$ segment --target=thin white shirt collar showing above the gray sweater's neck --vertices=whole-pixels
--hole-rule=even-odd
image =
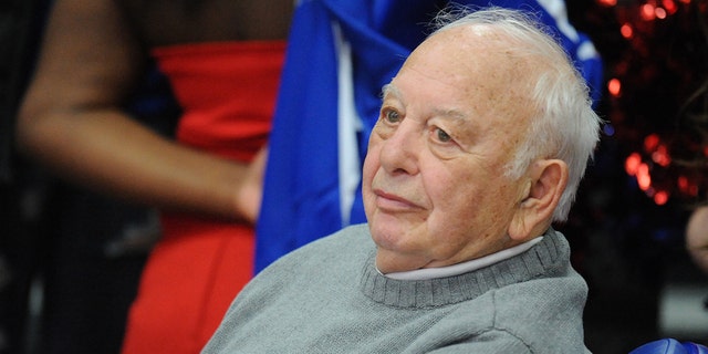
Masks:
[[[387,273],[387,274],[384,274],[381,271],[378,272],[386,278],[396,279],[396,280],[429,280],[429,279],[459,275],[462,273],[471,272],[473,270],[478,270],[478,269],[491,266],[493,263],[512,258],[519,253],[525,252],[534,244],[541,242],[542,239],[543,237],[537,237],[530,241],[523,242],[521,244],[517,244],[512,248],[508,248],[499,252],[485,256],[482,258],[472,259],[472,260],[452,264],[452,266],[440,267],[440,268],[421,268],[421,269],[415,269],[415,270],[409,270],[405,272],[394,272],[394,273]]]

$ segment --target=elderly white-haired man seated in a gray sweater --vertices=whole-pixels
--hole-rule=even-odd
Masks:
[[[586,352],[587,287],[551,223],[598,125],[534,22],[487,9],[444,25],[384,87],[368,225],[261,272],[204,353]]]

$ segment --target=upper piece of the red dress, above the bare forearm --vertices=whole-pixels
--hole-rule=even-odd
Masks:
[[[270,132],[284,49],[284,42],[239,42],[154,50],[184,110],[177,139],[250,160]]]

